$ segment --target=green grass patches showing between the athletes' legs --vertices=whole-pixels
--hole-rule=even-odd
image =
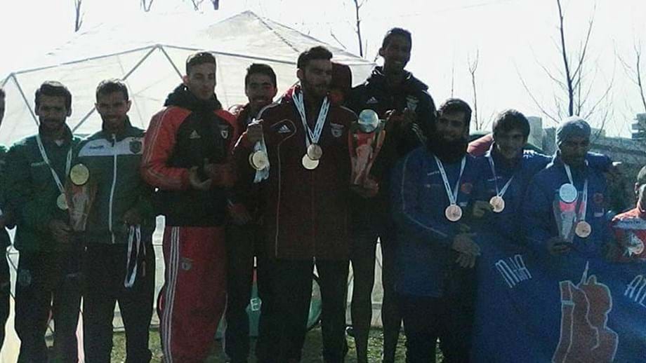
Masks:
[[[381,329],[371,329],[370,337],[368,341],[368,361],[369,362],[381,362]],[[113,338],[114,348],[112,348],[112,362],[124,362],[126,359],[126,337],[123,332],[114,333]],[[252,352],[253,345],[255,341],[252,340]],[[159,331],[157,329],[152,329],[150,331],[150,347],[152,350],[152,362],[162,362],[162,350],[159,348]],[[348,337],[348,356],[345,359],[345,362],[355,363],[357,362],[357,352],[355,350],[355,341],[351,337]],[[303,363],[318,363],[322,362],[321,358],[322,350],[322,341],[321,341],[321,329],[319,327],[312,329],[308,332],[308,336],[305,340],[305,347],[303,347]],[[395,362],[404,362],[404,334],[400,335],[400,342],[397,345],[397,357]],[[220,342],[216,343],[216,349],[213,352],[213,355],[206,360],[209,363],[220,363],[225,362],[224,354],[222,352]],[[255,359],[249,359],[250,363],[256,362]]]

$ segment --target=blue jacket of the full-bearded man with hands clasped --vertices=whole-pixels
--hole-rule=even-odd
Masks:
[[[400,294],[440,297],[459,289],[465,273],[451,249],[453,238],[466,228],[467,207],[477,177],[475,159],[466,155],[457,203],[463,217],[456,222],[444,217],[449,198],[440,170],[426,146],[405,156],[393,170],[391,200],[397,224],[395,289]],[[461,162],[444,163],[451,189],[456,185]]]

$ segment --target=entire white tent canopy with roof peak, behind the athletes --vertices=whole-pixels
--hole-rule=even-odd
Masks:
[[[29,69],[13,72],[1,83],[7,97],[0,144],[10,145],[37,132],[34,91],[47,80],[70,88],[72,116],[67,123],[74,133],[88,135],[101,125],[94,110],[94,92],[100,81],[124,79],[133,101],[131,122],[147,128],[150,117],[180,82],[186,57],[196,50],[216,55],[216,94],[224,107],[246,102],[244,74],[253,62],[269,64],[277,74],[279,94],[284,92],[296,82],[298,54],[312,46],[326,46],[336,62],[348,64],[355,84],[364,81],[374,67],[373,62],[250,11],[203,23],[178,15],[149,15],[145,24],[127,20],[98,25]]]

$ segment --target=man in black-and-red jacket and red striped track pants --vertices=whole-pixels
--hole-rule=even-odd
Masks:
[[[143,179],[159,189],[166,217],[166,275],[159,293],[164,362],[203,362],[225,308],[224,224],[229,160],[237,128],[214,90],[216,59],[196,53],[183,84],[152,117],[141,164]]]

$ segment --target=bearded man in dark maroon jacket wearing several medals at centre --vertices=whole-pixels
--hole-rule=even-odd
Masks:
[[[323,359],[343,362],[348,349],[348,128],[356,116],[328,100],[331,57],[320,46],[301,53],[296,71],[301,85],[293,97],[266,107],[258,116],[262,121],[249,125],[235,150],[241,167],[250,170],[251,146],[264,139],[269,158],[268,167],[256,172],[256,180],[266,178],[263,241],[272,274],[272,313],[263,317],[270,324],[265,341],[270,351],[258,362],[301,360],[314,266],[324,312]]]

